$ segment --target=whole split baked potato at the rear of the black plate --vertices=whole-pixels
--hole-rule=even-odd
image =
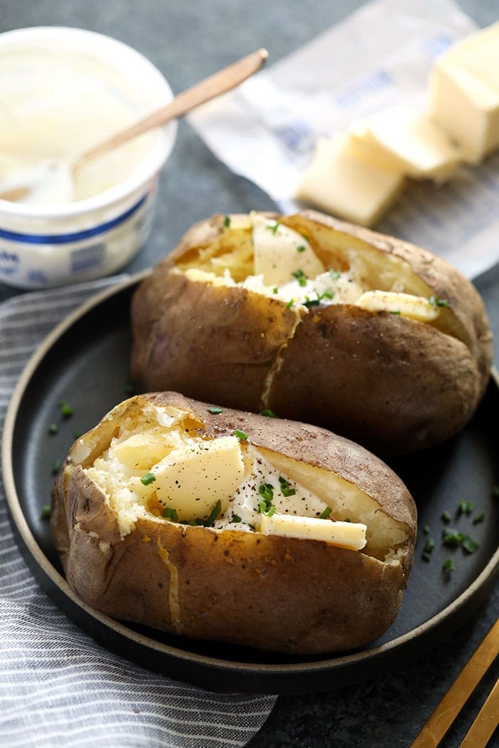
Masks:
[[[136,391],[269,409],[382,456],[462,429],[492,363],[456,269],[314,211],[196,224],[136,290],[132,334]]]

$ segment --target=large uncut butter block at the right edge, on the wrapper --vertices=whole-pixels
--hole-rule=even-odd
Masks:
[[[431,116],[479,163],[499,147],[499,22],[456,42],[435,62]]]

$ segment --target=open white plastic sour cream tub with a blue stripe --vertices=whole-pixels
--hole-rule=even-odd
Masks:
[[[147,58],[102,34],[0,34],[0,192],[31,183],[47,160],[70,164],[172,98]],[[70,191],[49,184],[26,202],[0,200],[0,282],[46,288],[126,265],[150,233],[157,177],[176,133],[170,123],[135,138],[82,169]]]

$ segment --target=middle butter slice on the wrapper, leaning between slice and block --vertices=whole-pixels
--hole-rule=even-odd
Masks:
[[[442,127],[408,107],[373,114],[352,131],[358,155],[414,179],[444,182],[462,162],[461,149]]]

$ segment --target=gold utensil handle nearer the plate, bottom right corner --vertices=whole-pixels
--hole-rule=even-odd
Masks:
[[[489,633],[486,634],[483,642],[477,647],[450,689],[447,691],[443,699],[441,699],[441,702],[435,708],[431,717],[429,717],[428,722],[423,726],[419,735],[417,735],[411,748],[435,748],[438,746],[462,707],[468,701],[471,693],[473,693],[477,684],[480,683],[483,675],[485,675],[498,654],[499,619],[492,626]],[[493,695],[494,691],[495,689],[493,689],[491,693],[493,704],[495,703],[496,698],[496,696]],[[489,696],[489,699],[491,696]],[[489,701],[489,699],[487,699],[487,701]],[[486,704],[483,705],[483,710],[484,709],[486,709]],[[475,720],[475,722],[476,721],[477,720]],[[474,726],[471,726],[471,729],[473,728]],[[468,745],[471,746],[471,743]],[[474,748],[476,748],[480,744],[475,743],[473,745]]]

